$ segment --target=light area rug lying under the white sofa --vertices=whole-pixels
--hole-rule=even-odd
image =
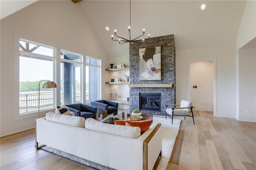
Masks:
[[[172,125],[172,119],[153,117],[153,122],[161,123],[162,127],[162,157],[158,164],[157,170],[165,170],[172,154],[172,149],[176,140],[176,136],[178,135],[180,120],[174,119]],[[97,164],[95,162],[80,158],[78,156],[74,156],[72,154],[68,154],[50,146],[44,146],[42,147],[42,149],[97,170],[114,170],[113,168]]]

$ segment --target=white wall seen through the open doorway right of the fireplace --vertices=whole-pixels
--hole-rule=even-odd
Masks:
[[[190,63],[190,101],[196,110],[213,111],[213,80],[213,61]]]

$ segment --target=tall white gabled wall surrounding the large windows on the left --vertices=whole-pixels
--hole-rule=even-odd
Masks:
[[[59,49],[102,59],[102,91],[108,56],[79,6],[71,1],[38,1],[0,20],[1,26],[1,136],[35,127],[36,117],[14,121],[14,33]],[[60,85],[59,85],[60,86]],[[58,88],[57,88],[58,89]],[[59,89],[60,90],[60,89]],[[57,103],[59,105],[60,103]]]

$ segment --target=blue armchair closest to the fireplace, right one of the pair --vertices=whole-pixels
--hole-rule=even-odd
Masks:
[[[108,115],[118,114],[118,103],[109,100],[91,101],[91,105],[98,108],[98,114],[102,115],[102,119]]]

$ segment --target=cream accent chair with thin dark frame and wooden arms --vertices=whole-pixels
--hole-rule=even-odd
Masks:
[[[176,106],[180,106],[180,107],[176,107]],[[168,107],[172,107],[172,108],[168,108]],[[193,103],[185,100],[180,101],[180,105],[166,105],[165,119],[167,115],[170,118],[172,118],[172,122],[173,122],[174,116],[184,116],[185,120],[186,120],[186,117],[192,117],[195,125],[194,115],[192,110],[193,108],[195,108],[193,106]]]

